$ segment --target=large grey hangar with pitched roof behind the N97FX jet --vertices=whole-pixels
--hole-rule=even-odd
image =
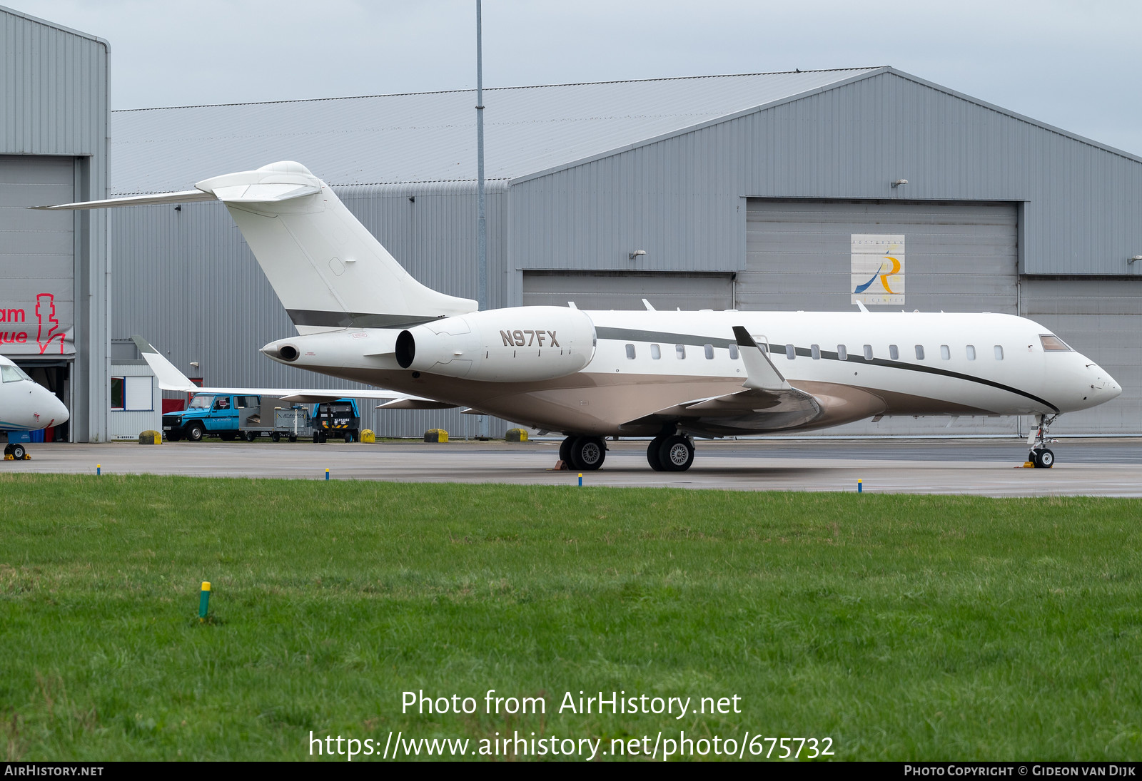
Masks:
[[[903,287],[870,308],[1037,320],[1125,388],[1055,433],[1142,434],[1142,158],[893,67],[484,98],[491,306],[844,311],[862,248],[894,242]],[[297,160],[417,279],[475,298],[474,105],[461,90],[112,112],[112,191]],[[293,330],[220,204],[116,210],[111,233],[121,357],[142,333],[208,384],[328,381],[258,354]],[[373,414],[378,434],[475,433],[455,410]],[[1026,435],[1028,422],[822,434]]]

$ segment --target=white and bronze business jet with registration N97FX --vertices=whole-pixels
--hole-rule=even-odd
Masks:
[[[1121,393],[1096,363],[1012,315],[478,312],[413,280],[296,162],[182,193],[48,208],[210,200],[226,204],[297,328],[263,353],[409,394],[381,408],[467,406],[562,432],[561,457],[577,469],[602,466],[606,436],[651,436],[650,466],[682,472],[695,436],[896,414],[1036,416],[1030,459],[1049,467],[1048,426]]]

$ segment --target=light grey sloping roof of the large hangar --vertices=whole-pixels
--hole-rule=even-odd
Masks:
[[[509,179],[806,95],[878,67],[484,90],[485,177]],[[474,89],[112,112],[115,194],[297,160],[333,185],[476,178]]]

